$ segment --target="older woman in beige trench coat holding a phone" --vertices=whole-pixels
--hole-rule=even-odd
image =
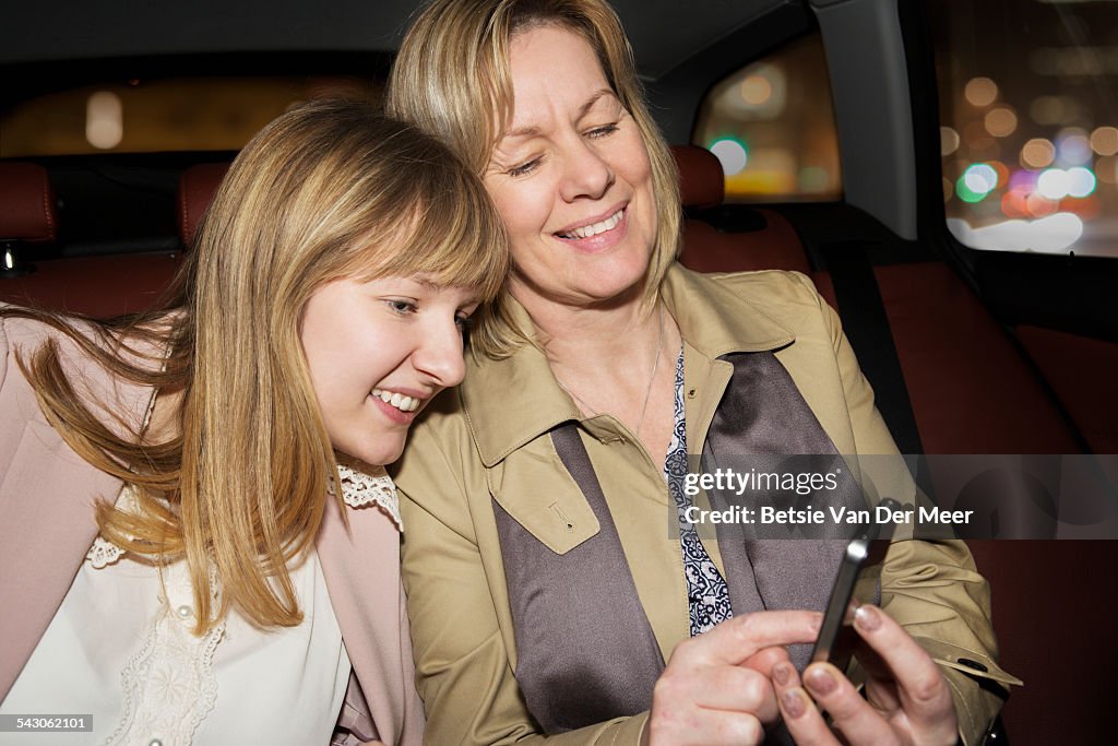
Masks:
[[[805,692],[784,649],[815,638],[804,610],[840,546],[669,537],[688,453],[896,446],[809,281],[674,263],[676,176],[612,9],[436,0],[389,110],[483,174],[514,263],[398,473],[430,743],[756,743],[781,715],[834,743],[816,703],[851,742],[977,739],[999,706],[977,679],[1008,679],[961,545],[892,546],[888,615],[858,617],[877,651],[863,699],[825,663]]]

